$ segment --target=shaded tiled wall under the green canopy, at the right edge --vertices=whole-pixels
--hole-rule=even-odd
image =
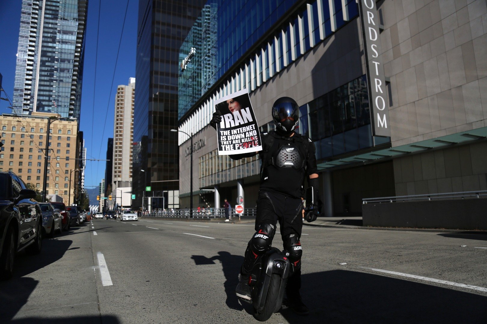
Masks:
[[[396,158],[397,196],[487,190],[487,142]]]

